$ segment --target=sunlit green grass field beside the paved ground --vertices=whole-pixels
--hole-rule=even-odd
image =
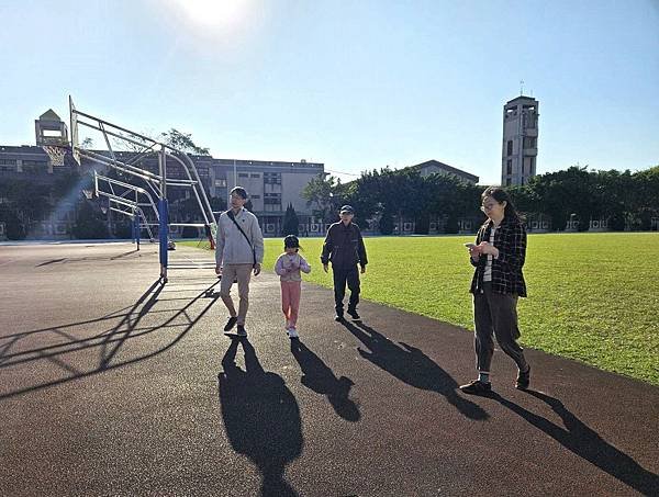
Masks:
[[[473,329],[471,236],[367,238],[361,295]],[[306,281],[332,286],[323,239],[303,238]],[[197,245],[193,242],[191,245]],[[659,234],[529,235],[520,301],[522,342],[659,385]],[[266,240],[266,270],[282,251]]]

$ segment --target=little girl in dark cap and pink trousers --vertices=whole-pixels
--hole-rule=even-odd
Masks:
[[[294,235],[288,235],[283,239],[283,253],[275,263],[275,272],[279,274],[281,284],[281,310],[286,318],[286,331],[289,338],[298,338],[295,325],[298,323],[298,310],[300,309],[300,296],[302,295],[302,275],[300,271],[311,272],[311,266],[304,260],[300,250],[300,240]]]

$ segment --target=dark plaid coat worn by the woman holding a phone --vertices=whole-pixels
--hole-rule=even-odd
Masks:
[[[476,235],[476,245],[490,240],[492,221],[488,219]],[[526,228],[520,221],[506,219],[494,231],[494,247],[499,249],[499,258],[492,258],[492,291],[496,293],[516,294],[526,296],[526,283],[522,267],[526,259]],[[471,280],[471,293],[481,293],[483,290],[483,274],[488,262],[487,256],[481,256],[478,262],[469,258],[476,267]]]

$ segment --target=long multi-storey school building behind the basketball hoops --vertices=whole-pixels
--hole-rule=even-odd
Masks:
[[[2,179],[29,179],[36,183],[53,184],[60,172],[70,172],[78,166],[70,150],[63,148],[68,144],[68,129],[59,116],[48,110],[35,121],[36,145],[10,146],[0,145],[0,182]],[[97,154],[109,155],[107,150],[96,150]],[[136,153],[116,153],[121,160],[130,161]],[[234,160],[215,159],[211,156],[190,155],[199,172],[204,190],[210,197],[219,197],[228,207],[228,192],[233,187],[244,187],[250,196],[252,211],[261,223],[266,235],[281,235],[283,216],[289,204],[293,206],[301,225],[313,224],[311,208],[302,199],[303,188],[319,174],[325,174],[323,163],[269,160]],[[147,157],[139,167],[157,172],[156,157]],[[105,166],[82,159],[80,169],[83,172],[97,170],[104,173]],[[167,165],[169,178],[186,178],[185,171],[175,162]],[[189,197],[190,191],[168,189],[172,218],[171,222],[189,222],[191,219],[176,218],[176,203]],[[0,204],[2,199],[0,197]],[[62,214],[62,219],[53,221],[47,216],[43,219],[32,219],[29,231],[33,238],[68,238],[75,221],[72,213]],[[201,217],[201,215],[200,215]],[[192,219],[193,221],[193,219]],[[198,219],[199,221],[199,219]],[[178,229],[172,227],[176,235]]]

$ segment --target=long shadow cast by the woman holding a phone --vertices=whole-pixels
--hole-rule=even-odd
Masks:
[[[565,428],[518,406],[496,393],[492,393],[490,398],[501,403],[501,405],[507,407],[534,427],[543,430],[566,449],[630,486],[636,492],[643,495],[659,495],[659,475],[647,471],[629,455],[606,442],[606,440],[570,413],[558,398],[530,389],[526,391],[526,393],[539,398],[551,407],[551,410],[560,416]]]

